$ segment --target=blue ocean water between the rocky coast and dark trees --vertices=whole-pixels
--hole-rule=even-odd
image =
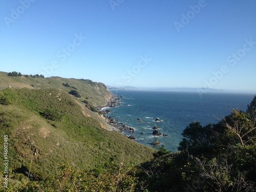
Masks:
[[[116,92],[114,92],[116,94]],[[193,121],[202,125],[217,123],[230,114],[233,108],[245,111],[253,99],[253,94],[238,93],[207,93],[200,97],[196,92],[166,92],[166,91],[128,91],[118,90],[120,106],[110,108],[116,120],[135,128],[136,142],[152,146],[156,149],[164,144],[169,151],[177,151],[182,139],[182,131]],[[156,122],[156,118],[162,121]],[[140,118],[142,122],[138,122]],[[158,130],[168,136],[154,136],[152,127],[156,124]],[[153,146],[155,140],[161,143]]]

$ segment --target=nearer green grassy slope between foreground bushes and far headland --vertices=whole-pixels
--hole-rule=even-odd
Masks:
[[[152,148],[102,129],[98,121],[84,116],[73,96],[63,91],[5,89],[0,91],[0,98],[7,98],[9,103],[0,104],[0,126],[1,135],[9,136],[11,171],[22,166],[29,169],[31,159],[31,172],[46,177],[58,163],[92,169],[121,155],[134,163],[152,158]],[[47,109],[60,118],[42,117]]]

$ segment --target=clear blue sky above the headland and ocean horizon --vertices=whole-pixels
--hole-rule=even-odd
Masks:
[[[0,71],[256,91],[254,0],[2,0],[0,18]]]

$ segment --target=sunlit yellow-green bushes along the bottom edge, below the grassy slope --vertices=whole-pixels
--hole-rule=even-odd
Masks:
[[[133,165],[124,166],[123,163],[111,161],[102,170],[90,172],[75,172],[69,164],[62,164],[56,169],[56,179],[28,181],[23,179],[19,186],[9,183],[9,188],[3,186],[0,191],[136,191],[138,178],[135,177],[136,168]]]

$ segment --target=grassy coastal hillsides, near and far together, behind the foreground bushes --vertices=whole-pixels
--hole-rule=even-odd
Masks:
[[[55,167],[67,162],[77,170],[89,170],[111,158],[123,156],[125,162],[140,163],[153,157],[153,148],[107,131],[104,119],[81,102],[107,103],[113,94],[103,83],[7,74],[0,72],[0,132],[8,135],[11,177],[26,176],[30,170],[33,177],[54,178]],[[81,97],[69,94],[72,88],[62,83],[75,87]]]

